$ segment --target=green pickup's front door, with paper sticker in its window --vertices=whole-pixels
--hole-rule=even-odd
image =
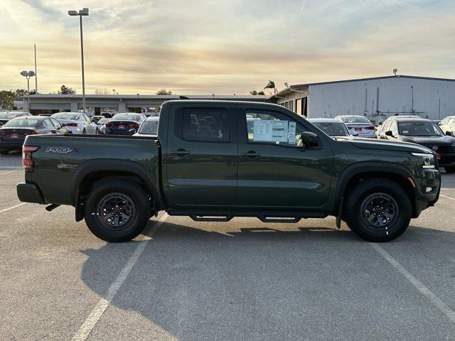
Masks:
[[[328,199],[333,152],[326,137],[303,146],[304,131],[319,133],[291,113],[239,113],[237,205],[267,208],[320,207]]]

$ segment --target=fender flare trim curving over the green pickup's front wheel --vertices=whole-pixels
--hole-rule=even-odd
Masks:
[[[414,184],[417,184],[417,180],[410,171],[409,168],[402,166],[397,163],[390,162],[370,162],[362,161],[359,163],[354,163],[346,167],[338,178],[338,182],[335,188],[335,200],[333,202],[333,212],[341,211],[341,201],[343,200],[344,193],[348,187],[348,183],[355,176],[362,173],[389,173],[393,175],[400,175],[404,178],[412,178]],[[414,189],[415,194],[415,189]],[[412,202],[414,206],[414,202]]]

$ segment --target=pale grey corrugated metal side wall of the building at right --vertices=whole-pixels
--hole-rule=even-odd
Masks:
[[[379,102],[378,102],[379,88]],[[366,90],[366,111],[365,111]],[[414,104],[412,104],[414,92]],[[309,86],[309,117],[363,115],[382,121],[379,114],[410,113],[429,119],[455,114],[455,82],[393,77]]]

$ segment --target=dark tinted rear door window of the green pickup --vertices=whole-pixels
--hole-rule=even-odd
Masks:
[[[229,142],[230,112],[227,109],[183,109],[181,127],[181,136],[187,141]]]

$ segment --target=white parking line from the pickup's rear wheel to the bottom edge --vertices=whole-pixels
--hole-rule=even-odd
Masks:
[[[152,227],[151,229],[151,237],[154,236],[155,232],[161,224],[166,220],[169,216],[167,213],[164,213],[164,215],[159,218],[158,222]],[[112,298],[114,298],[115,294],[117,291],[119,291],[119,288],[122,286],[124,280],[127,278],[129,275],[129,271],[133,268],[134,264],[136,264],[137,260],[141,256],[142,252],[144,251],[147,242],[152,240],[149,237],[143,236],[141,238],[141,242],[139,242],[138,246],[134,250],[134,253],[132,254],[131,257],[129,257],[127,264],[123,267],[122,271],[120,271],[119,275],[117,278],[115,278],[114,283],[111,284],[109,289],[107,290],[107,293],[105,295],[105,298],[101,298],[100,301],[98,301],[97,305],[95,305],[95,308],[93,308],[92,312],[88,317],[85,319],[84,323],[80,326],[79,330],[75,332],[75,335],[73,335],[73,338],[71,340],[77,340],[77,341],[82,341],[87,339],[88,335],[92,331],[92,329],[95,327],[97,324],[98,320],[100,320],[102,314],[105,312],[106,308],[109,306],[109,304],[112,301]]]

